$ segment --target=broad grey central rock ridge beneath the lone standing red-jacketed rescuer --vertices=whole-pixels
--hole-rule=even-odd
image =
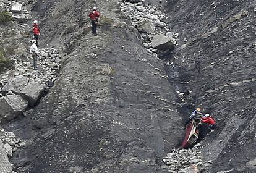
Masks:
[[[64,44],[67,59],[49,95],[13,122],[20,128],[9,127],[31,141],[14,153],[15,171],[165,172],[161,154],[178,145],[181,132],[176,96],[161,60],[143,48],[129,22],[119,27],[125,19],[116,2],[99,5],[115,20],[111,27],[100,26],[96,37],[87,18],[77,19],[88,15],[84,6],[94,4],[36,4],[38,15],[46,14],[41,30],[48,35],[42,42]],[[58,14],[67,5],[69,10]]]

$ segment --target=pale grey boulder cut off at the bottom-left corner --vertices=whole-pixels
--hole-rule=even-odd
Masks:
[[[0,139],[0,172],[1,173],[12,173],[12,166],[7,157],[6,151],[4,149],[4,144]]]

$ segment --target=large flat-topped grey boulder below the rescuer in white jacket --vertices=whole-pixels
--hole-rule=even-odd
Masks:
[[[2,88],[2,91],[4,92],[12,91],[27,99],[30,106],[34,106],[36,101],[40,99],[43,90],[44,87],[39,83],[22,75],[12,77]]]

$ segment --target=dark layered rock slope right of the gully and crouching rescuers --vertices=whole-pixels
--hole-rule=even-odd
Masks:
[[[218,123],[203,141],[203,154],[213,160],[209,172],[249,171],[246,165],[256,156],[255,6],[254,1],[164,4],[171,15],[166,22],[181,33],[166,70],[176,90],[192,91],[182,96],[181,113],[200,105]]]

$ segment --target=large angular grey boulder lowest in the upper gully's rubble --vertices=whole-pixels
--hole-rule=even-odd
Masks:
[[[176,44],[176,40],[169,36],[161,34],[153,36],[151,46],[160,50],[173,50]]]

